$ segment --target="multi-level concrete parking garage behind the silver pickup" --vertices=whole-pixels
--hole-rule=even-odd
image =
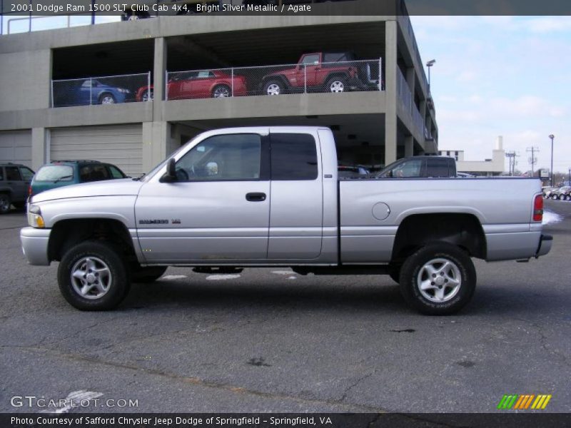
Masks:
[[[345,164],[380,166],[437,153],[435,107],[408,16],[323,10],[323,16],[161,16],[0,36],[0,162],[39,168],[96,159],[137,175],[203,130],[269,124],[330,126]],[[378,64],[376,88],[260,95],[259,81],[276,70],[260,67],[343,51]],[[212,69],[246,76],[248,96],[168,99],[167,81],[189,76],[180,72]],[[153,101],[121,102],[138,101],[136,91],[148,83]],[[101,104],[103,87],[114,91],[115,103]],[[61,101],[71,96],[84,98]]]

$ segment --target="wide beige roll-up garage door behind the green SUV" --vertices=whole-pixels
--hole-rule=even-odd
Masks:
[[[136,177],[143,172],[143,126],[80,126],[53,128],[50,133],[51,161],[101,161],[117,165]]]

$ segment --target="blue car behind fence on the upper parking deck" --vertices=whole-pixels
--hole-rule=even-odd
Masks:
[[[54,107],[89,106],[134,101],[126,88],[101,83],[95,78],[85,81],[54,81]]]

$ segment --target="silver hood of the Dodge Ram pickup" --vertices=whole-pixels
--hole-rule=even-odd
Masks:
[[[134,181],[132,178],[66,185],[61,188],[46,190],[45,192],[32,196],[31,203],[66,198],[87,198],[91,196],[138,195],[138,190],[141,188],[141,185],[143,185],[141,181]]]

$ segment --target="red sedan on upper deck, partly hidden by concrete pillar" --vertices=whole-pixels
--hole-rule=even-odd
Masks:
[[[246,78],[231,76],[221,70],[181,71],[169,73],[167,84],[168,100],[190,98],[225,98],[228,96],[246,96]],[[233,93],[232,93],[233,91]],[[137,101],[153,99],[153,86],[138,88]]]

